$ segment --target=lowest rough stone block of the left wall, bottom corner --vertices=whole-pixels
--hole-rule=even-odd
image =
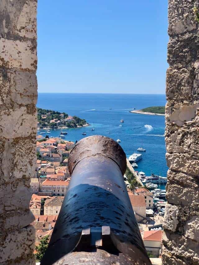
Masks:
[[[19,231],[9,233],[0,247],[0,263],[29,255],[33,253],[34,248],[35,228],[33,226],[27,226]]]

